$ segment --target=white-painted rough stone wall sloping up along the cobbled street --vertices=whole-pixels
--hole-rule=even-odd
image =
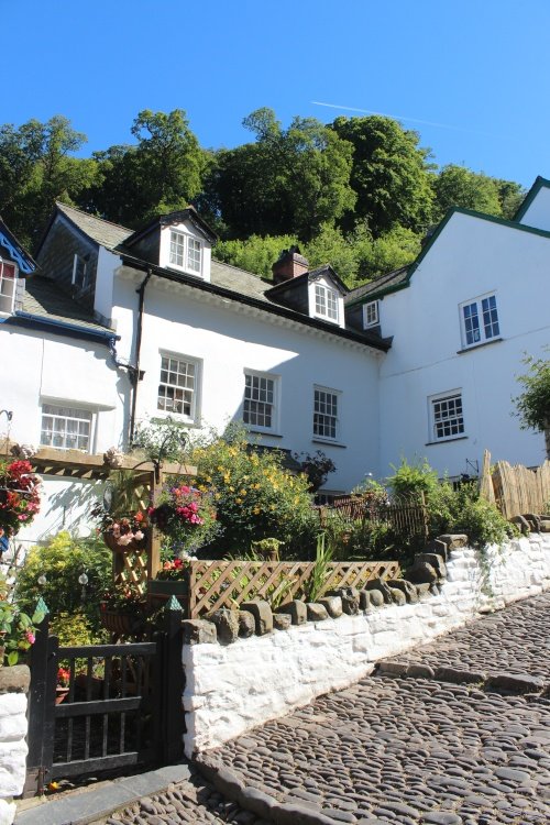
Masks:
[[[316,696],[345,688],[384,659],[465,625],[481,612],[550,588],[550,536],[488,550],[454,550],[438,596],[308,623],[233,645],[184,646],[185,751],[216,747]]]

